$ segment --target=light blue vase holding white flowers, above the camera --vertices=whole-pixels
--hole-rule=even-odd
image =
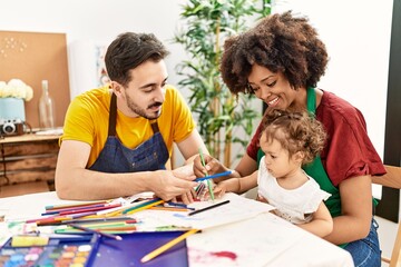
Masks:
[[[0,98],[0,120],[25,121],[25,103],[21,98]]]

